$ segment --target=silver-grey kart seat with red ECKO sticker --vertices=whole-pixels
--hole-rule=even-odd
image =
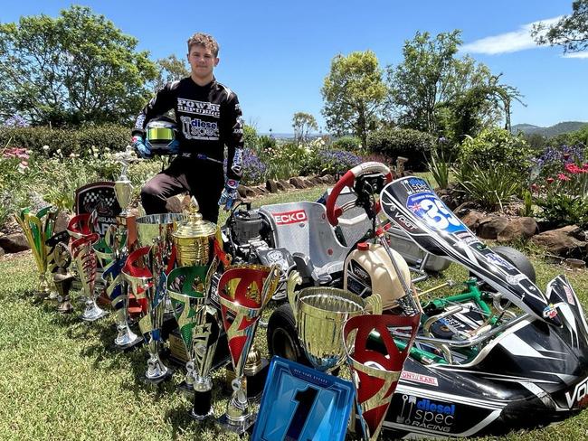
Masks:
[[[337,240],[324,205],[287,202],[264,205],[260,212],[270,222],[275,248],[288,249],[303,276],[321,284],[343,271],[349,248]]]

